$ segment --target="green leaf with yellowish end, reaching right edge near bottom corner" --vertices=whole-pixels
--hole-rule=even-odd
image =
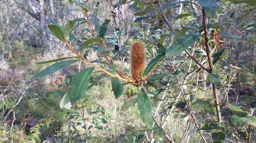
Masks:
[[[256,116],[238,117],[237,115],[232,115],[229,118],[229,122],[232,126],[256,126]]]

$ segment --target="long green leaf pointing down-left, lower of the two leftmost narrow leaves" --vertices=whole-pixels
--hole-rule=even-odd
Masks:
[[[78,60],[60,61],[58,63],[52,64],[49,67],[45,68],[42,72],[34,76],[32,80],[41,79],[45,75],[53,74],[54,72],[57,72],[58,70],[65,68],[66,66],[73,64],[76,61]]]

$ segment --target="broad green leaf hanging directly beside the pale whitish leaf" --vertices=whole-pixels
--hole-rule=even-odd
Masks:
[[[89,84],[89,79],[94,70],[94,67],[89,67],[79,72],[75,79],[71,83],[71,103],[75,103],[77,100],[87,96],[85,93],[87,91],[87,86]]]

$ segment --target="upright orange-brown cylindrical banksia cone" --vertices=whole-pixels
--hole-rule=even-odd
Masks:
[[[141,79],[139,70],[145,70],[144,45],[140,42],[133,43],[131,52],[132,79]]]

